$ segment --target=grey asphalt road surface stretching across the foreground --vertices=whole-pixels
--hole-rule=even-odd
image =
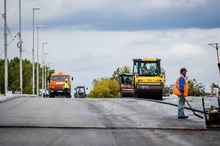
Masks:
[[[175,106],[129,98],[21,97],[0,103],[0,145],[219,145],[219,130],[185,113],[177,119]]]

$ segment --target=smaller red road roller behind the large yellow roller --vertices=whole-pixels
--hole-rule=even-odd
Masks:
[[[119,85],[120,85],[120,97],[133,97],[134,96],[132,74],[120,74]]]

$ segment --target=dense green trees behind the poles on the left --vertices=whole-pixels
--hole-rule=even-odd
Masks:
[[[8,91],[16,92],[20,90],[20,59],[15,57],[8,61]],[[23,84],[23,94],[31,94],[33,87],[33,69],[32,62],[23,59],[22,60],[22,84]],[[37,80],[37,63],[35,62],[35,81]],[[45,68],[44,68],[45,69]],[[46,66],[46,70],[48,71]],[[5,73],[4,73],[4,59],[0,59],[0,92],[5,93]],[[54,73],[55,70],[49,70],[49,76]],[[47,76],[48,78],[48,76]],[[37,82],[35,82],[35,93]],[[42,66],[39,64],[39,87],[42,87]]]

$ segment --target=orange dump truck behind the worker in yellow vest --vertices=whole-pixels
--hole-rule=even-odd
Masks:
[[[58,95],[61,95],[61,96],[65,95],[63,84],[66,79],[69,84],[68,97],[71,97],[71,80],[73,80],[73,77],[70,78],[70,75],[65,72],[56,72],[56,73],[51,74],[50,88],[49,88],[50,97],[55,97]]]

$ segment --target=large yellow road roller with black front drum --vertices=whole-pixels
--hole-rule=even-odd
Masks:
[[[164,76],[161,59],[133,59],[134,97],[162,100]]]

